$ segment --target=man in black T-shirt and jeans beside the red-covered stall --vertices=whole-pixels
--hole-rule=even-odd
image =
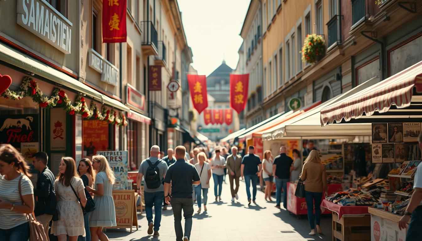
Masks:
[[[280,154],[274,158],[273,176],[276,179],[276,208],[280,208],[281,188],[283,188],[283,206],[287,209],[287,182],[290,181],[290,167],[292,166],[292,158],[287,156],[285,146],[280,147]]]

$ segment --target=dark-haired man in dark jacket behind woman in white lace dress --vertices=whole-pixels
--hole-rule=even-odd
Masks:
[[[37,152],[32,155],[34,169],[40,172],[37,187],[34,189],[34,214],[37,221],[43,225],[47,240],[49,240],[49,224],[57,206],[57,198],[54,191],[55,178],[47,167],[48,159],[49,157],[45,152]]]

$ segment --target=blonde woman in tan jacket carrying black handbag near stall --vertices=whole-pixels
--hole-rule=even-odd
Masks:
[[[317,223],[317,232],[322,234],[319,222],[321,219],[321,205],[322,192],[327,190],[327,174],[325,173],[325,165],[321,163],[318,151],[311,150],[303,165],[300,179],[305,184],[305,200],[308,206],[308,220],[311,226],[311,233],[315,234],[315,222]],[[315,215],[314,215],[315,203]]]

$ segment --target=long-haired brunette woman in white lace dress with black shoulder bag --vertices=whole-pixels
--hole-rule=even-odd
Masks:
[[[84,183],[76,172],[76,162],[72,157],[62,157],[59,165],[59,175],[54,181],[54,189],[59,202],[57,211],[59,220],[53,221],[51,233],[59,241],[76,241],[79,235],[85,236],[84,214],[82,206],[87,204]],[[81,204],[79,204],[79,200]]]

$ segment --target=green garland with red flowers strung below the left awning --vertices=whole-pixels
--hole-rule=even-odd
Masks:
[[[110,111],[106,106],[103,106],[100,110],[94,101],[91,101],[91,106],[88,108],[85,98],[81,95],[76,97],[75,105],[72,105],[65,91],[57,87],[53,89],[51,97],[44,96],[38,86],[38,82],[29,76],[23,78],[17,91],[6,89],[1,96],[11,100],[21,100],[29,96],[32,98],[32,101],[38,103],[42,108],[52,108],[57,104],[62,104],[63,109],[70,115],[82,114],[82,117],[85,119],[94,117],[94,119],[105,120],[114,125],[127,125],[126,117],[121,112],[118,115],[116,111]]]

